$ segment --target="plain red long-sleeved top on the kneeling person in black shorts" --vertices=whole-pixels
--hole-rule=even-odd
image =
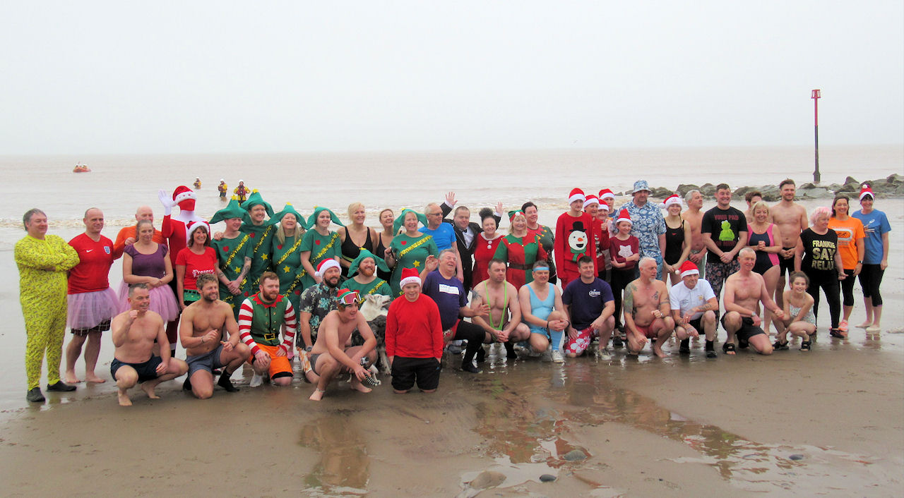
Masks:
[[[414,302],[405,296],[392,301],[386,316],[386,355],[438,358],[443,346],[443,326],[434,300],[421,294]]]

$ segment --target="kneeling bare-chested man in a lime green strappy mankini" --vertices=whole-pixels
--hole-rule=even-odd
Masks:
[[[505,346],[505,357],[513,360],[515,343],[531,338],[531,329],[521,321],[521,303],[518,290],[505,280],[505,262],[500,259],[490,260],[489,278],[474,286],[475,298],[471,301],[471,309],[478,310],[481,305],[490,307],[488,317],[474,316],[471,321],[482,327],[487,334]]]

